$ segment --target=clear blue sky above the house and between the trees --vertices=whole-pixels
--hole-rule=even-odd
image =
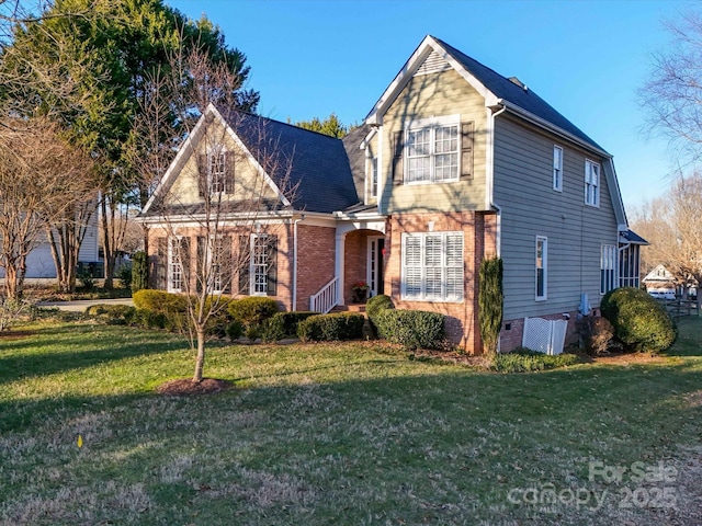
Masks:
[[[690,2],[478,0],[167,0],[219,25],[246,54],[260,112],[285,121],[336,113],[361,122],[431,34],[497,72],[519,77],[614,156],[627,208],[663,193],[673,165],[649,138],[637,90],[663,20]]]

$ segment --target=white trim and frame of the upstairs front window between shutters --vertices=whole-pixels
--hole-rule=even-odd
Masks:
[[[443,184],[443,183],[456,183],[461,181],[461,161],[462,161],[462,128],[461,128],[461,115],[442,115],[429,118],[418,118],[405,122],[403,126],[403,183],[406,185],[421,185],[421,184]],[[435,179],[435,156],[437,156],[437,129],[455,126],[456,127],[456,149],[453,153],[456,156],[455,173],[451,179]],[[409,134],[412,132],[420,132],[429,129],[429,179],[422,181],[409,181]],[[446,152],[441,152],[446,153]]]

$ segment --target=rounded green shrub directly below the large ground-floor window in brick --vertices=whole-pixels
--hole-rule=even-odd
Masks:
[[[375,317],[378,335],[405,348],[442,348],[444,317],[422,310],[385,309]]]

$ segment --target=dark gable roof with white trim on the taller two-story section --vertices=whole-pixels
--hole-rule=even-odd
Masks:
[[[478,93],[485,98],[486,106],[505,106],[534,124],[545,126],[552,132],[574,140],[598,153],[611,157],[607,151],[568,121],[541,96],[528,89],[516,78],[507,78],[468,57],[458,49],[432,35],[427,35],[411,57],[405,62],[395,80],[376,102],[365,122],[382,124],[382,116],[397,95],[407,85],[412,75],[422,67],[429,57],[443,58]]]

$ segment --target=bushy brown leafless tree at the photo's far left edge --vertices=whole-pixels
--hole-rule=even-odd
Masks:
[[[5,294],[22,296],[26,258],[43,232],[61,225],[87,199],[90,162],[43,118],[5,119],[0,135],[0,266]],[[78,191],[77,188],[81,188]]]

